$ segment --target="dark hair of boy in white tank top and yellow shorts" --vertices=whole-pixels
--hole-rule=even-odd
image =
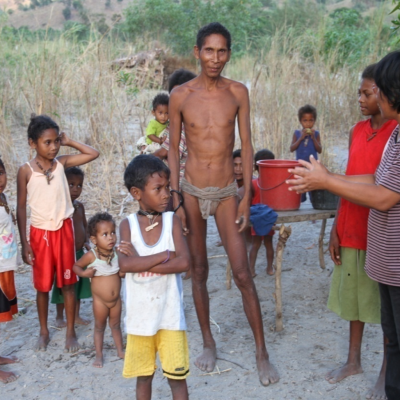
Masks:
[[[136,156],[126,167],[124,182],[130,191],[132,187],[143,190],[153,174],[165,175],[169,179],[169,168],[156,156],[141,154]]]

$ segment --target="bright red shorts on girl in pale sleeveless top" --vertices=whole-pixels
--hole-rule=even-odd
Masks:
[[[30,245],[34,254],[33,285],[39,292],[50,292],[56,274],[59,288],[78,280],[72,271],[75,263],[75,239],[72,219],[64,220],[57,231],[45,231],[31,226]]]

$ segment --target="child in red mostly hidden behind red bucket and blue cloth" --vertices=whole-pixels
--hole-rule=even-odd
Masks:
[[[257,161],[260,160],[274,160],[275,155],[271,151],[267,149],[262,149],[257,151],[256,155],[254,156],[254,168],[256,171],[258,171],[258,165]],[[252,186],[252,200],[251,200],[251,205],[259,204],[261,203],[261,194],[260,194],[260,188],[258,186],[258,178],[253,179],[251,181],[251,186]],[[251,228],[251,236],[252,236],[252,242],[251,242],[251,248],[249,252],[249,263],[250,263],[250,271],[253,277],[255,277],[256,270],[256,260],[257,260],[257,254],[258,250],[260,250],[261,244],[264,242],[264,246],[267,251],[267,269],[266,272],[268,275],[273,275],[274,274],[274,267],[273,267],[273,262],[274,262],[274,247],[273,247],[273,242],[272,242],[272,237],[274,236],[275,231],[271,230],[266,236],[257,236],[254,228]]]

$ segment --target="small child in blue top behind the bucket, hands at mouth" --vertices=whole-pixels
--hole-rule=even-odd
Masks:
[[[302,130],[295,130],[293,134],[290,151],[296,150],[296,160],[310,161],[310,156],[318,160],[318,153],[322,152],[321,137],[318,131],[314,129],[317,120],[317,109],[309,104],[299,108],[299,121]],[[301,195],[301,201],[306,201],[305,193]]]

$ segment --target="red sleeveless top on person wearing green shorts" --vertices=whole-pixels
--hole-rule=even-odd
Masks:
[[[386,142],[396,126],[396,121],[386,122],[378,130],[376,136],[367,141],[375,132],[371,128],[371,120],[358,122],[353,129],[346,175],[374,174],[381,161]],[[337,218],[340,246],[367,250],[369,209],[344,199],[340,201]]]

